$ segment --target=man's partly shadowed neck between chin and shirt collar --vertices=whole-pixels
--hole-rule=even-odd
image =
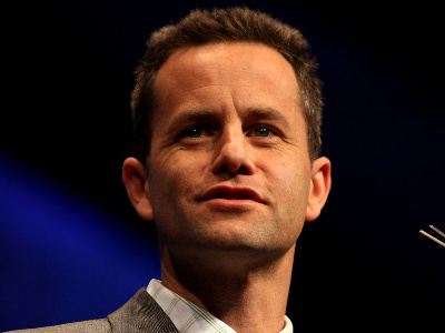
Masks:
[[[162,284],[237,332],[279,332],[294,251],[295,245],[284,254],[259,261],[257,255],[178,258],[164,248]]]

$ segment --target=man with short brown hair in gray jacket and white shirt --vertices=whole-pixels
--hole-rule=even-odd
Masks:
[[[330,189],[300,33],[245,8],[155,32],[132,93],[122,181],[156,221],[161,281],[107,319],[36,332],[291,332],[296,241]]]

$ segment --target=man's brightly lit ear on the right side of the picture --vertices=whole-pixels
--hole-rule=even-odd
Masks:
[[[306,221],[318,218],[330,191],[330,161],[319,158],[313,162],[310,193],[306,208]]]

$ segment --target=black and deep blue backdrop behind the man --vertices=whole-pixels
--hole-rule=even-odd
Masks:
[[[298,28],[325,82],[333,190],[297,242],[297,332],[443,327],[439,2],[17,1],[2,6],[0,331],[103,317],[159,278],[120,181],[132,71],[151,31],[246,4]],[[433,232],[432,232],[433,233]]]

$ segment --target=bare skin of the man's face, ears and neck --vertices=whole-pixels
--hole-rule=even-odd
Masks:
[[[134,206],[158,226],[162,284],[237,332],[283,329],[295,243],[330,189],[298,89],[263,44],[179,49],[156,79],[149,176],[123,164]]]

